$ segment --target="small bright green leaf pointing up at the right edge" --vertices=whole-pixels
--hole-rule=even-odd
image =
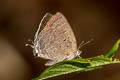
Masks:
[[[120,45],[120,39],[114,44],[113,48],[105,55],[105,57],[111,58],[115,55]]]

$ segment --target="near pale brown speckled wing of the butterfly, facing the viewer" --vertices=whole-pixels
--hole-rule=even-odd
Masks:
[[[73,30],[60,12],[49,19],[37,39],[38,55],[44,59],[59,62],[77,51]]]

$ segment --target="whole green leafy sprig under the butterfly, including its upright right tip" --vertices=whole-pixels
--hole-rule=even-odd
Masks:
[[[73,72],[83,72],[99,69],[108,64],[120,63],[119,59],[112,57],[118,50],[120,39],[115,43],[113,48],[105,56],[97,56],[93,58],[80,58],[74,60],[66,60],[48,67],[40,76],[32,80],[43,80],[63,74]]]

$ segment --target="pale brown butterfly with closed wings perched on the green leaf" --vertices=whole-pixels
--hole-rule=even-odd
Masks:
[[[43,29],[41,30],[41,28]],[[47,59],[46,66],[80,57],[81,46],[89,43],[81,42],[77,47],[75,35],[65,16],[57,12],[46,13],[42,18],[31,47],[35,56]]]

